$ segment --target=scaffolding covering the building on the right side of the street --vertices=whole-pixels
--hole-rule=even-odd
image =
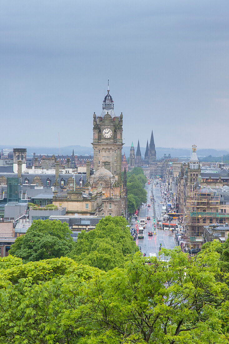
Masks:
[[[219,193],[211,189],[194,190],[187,196],[186,233],[184,239],[188,247],[196,247],[201,243],[204,226],[218,223],[220,222],[220,218],[229,215],[224,213],[221,214],[219,212],[219,206]]]

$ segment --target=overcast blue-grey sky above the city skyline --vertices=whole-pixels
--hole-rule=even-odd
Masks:
[[[2,0],[0,144],[90,146],[109,76],[127,146],[229,149],[228,18],[228,0]]]

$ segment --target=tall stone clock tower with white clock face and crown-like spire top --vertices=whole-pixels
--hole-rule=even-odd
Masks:
[[[108,87],[109,88],[109,87]],[[122,113],[114,114],[114,102],[108,89],[100,116],[93,115],[94,169],[106,168],[121,185]]]

